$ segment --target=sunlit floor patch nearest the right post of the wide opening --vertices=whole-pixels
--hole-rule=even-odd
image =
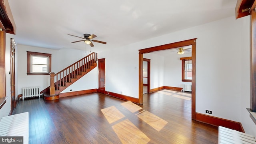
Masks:
[[[136,114],[140,119],[142,119],[144,122],[152,126],[155,130],[158,132],[164,128],[164,126],[168,123],[162,118],[159,118],[158,116],[152,114],[151,112],[148,112],[146,110],[139,112]]]

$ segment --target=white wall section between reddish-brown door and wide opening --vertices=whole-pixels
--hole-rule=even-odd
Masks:
[[[105,90],[138,97],[138,51],[132,47],[98,53],[105,59]]]

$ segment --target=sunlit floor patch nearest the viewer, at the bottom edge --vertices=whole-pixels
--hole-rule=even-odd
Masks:
[[[150,139],[130,120],[126,119],[112,126],[122,144],[147,144]]]

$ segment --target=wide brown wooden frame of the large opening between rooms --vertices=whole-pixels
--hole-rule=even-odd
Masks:
[[[192,99],[191,99],[191,118],[196,120],[196,39],[184,40],[151,48],[139,50],[139,104],[143,104],[143,54],[156,52],[159,50],[168,50],[183,46],[192,46]]]

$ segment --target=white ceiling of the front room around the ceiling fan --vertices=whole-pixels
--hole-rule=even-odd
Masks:
[[[102,51],[235,15],[236,0],[8,0],[18,44]]]

